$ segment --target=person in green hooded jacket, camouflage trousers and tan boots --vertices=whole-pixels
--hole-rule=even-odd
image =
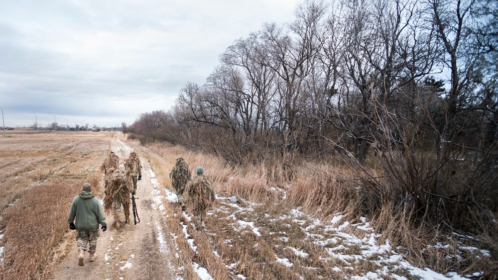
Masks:
[[[95,249],[99,234],[99,224],[102,225],[102,231],[107,229],[107,221],[102,211],[99,200],[92,193],[92,186],[89,183],[83,184],[83,190],[78,194],[71,203],[69,215],[67,217],[69,229],[76,230],[76,244],[78,245],[78,265],[84,266],[85,251],[87,244],[90,244],[88,253],[90,262],[95,261]]]

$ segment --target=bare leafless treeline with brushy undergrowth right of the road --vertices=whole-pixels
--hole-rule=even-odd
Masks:
[[[379,205],[496,230],[497,6],[305,1],[292,22],[236,40],[170,111],[124,131],[288,176],[303,160],[341,159]]]

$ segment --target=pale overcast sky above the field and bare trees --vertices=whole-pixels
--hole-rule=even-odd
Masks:
[[[0,0],[5,126],[131,124],[300,0]],[[32,114],[32,113],[36,113]],[[0,124],[1,126],[1,124]]]

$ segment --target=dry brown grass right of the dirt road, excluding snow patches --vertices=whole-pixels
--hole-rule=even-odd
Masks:
[[[337,267],[346,266],[344,262],[333,258],[328,261],[324,259],[330,259],[326,247],[341,244],[318,245],[310,242],[307,234],[326,233],[320,227],[305,233],[303,228],[310,226],[311,221],[296,224],[289,217],[290,209],[300,209],[310,217],[321,220],[330,220],[337,213],[352,223],[359,221],[360,217],[368,217],[368,220],[373,221],[371,226],[375,232],[381,233],[380,244],[389,240],[391,247],[398,248],[395,250],[403,254],[405,260],[421,268],[428,267],[441,273],[494,271],[492,259],[458,252],[457,245],[467,244],[462,243],[464,241],[461,239],[455,239],[454,236],[448,239],[447,232],[415,223],[408,214],[400,211],[393,214],[397,205],[380,201],[374,194],[362,189],[358,174],[341,163],[303,163],[293,169],[291,180],[285,182],[281,179],[288,176],[284,176],[284,173],[289,171],[284,172],[274,166],[267,168],[261,164],[231,168],[222,159],[178,146],[154,143],[147,148],[157,155],[150,162],[162,186],[172,190],[167,177],[175,160],[183,157],[192,171],[197,166],[205,168],[206,175],[215,181],[218,196],[236,196],[240,207],[251,209],[239,210],[220,199],[206,219],[207,232],[200,233],[194,229],[195,219],[187,221],[178,205],[173,206],[175,215],[171,215],[168,221],[172,231],[176,236],[183,237],[182,224],[186,225],[189,238],[193,238],[198,246],[198,253],[194,254],[185,238],[175,239],[179,254],[177,265],[186,268],[182,274],[184,279],[198,279],[195,272],[191,271],[192,262],[208,268],[214,279],[237,279],[238,273],[248,279],[342,279],[346,275],[362,275],[378,269],[372,262],[378,256],[373,255],[370,259],[350,264],[348,269],[337,271]],[[161,165],[161,159],[171,162],[171,166]],[[378,171],[368,172],[379,176],[378,180],[383,180]],[[261,235],[257,236],[251,228],[237,224],[235,219],[253,222]],[[285,234],[279,235],[279,232]],[[349,227],[344,233],[360,237],[365,234],[355,227]],[[284,236],[286,240],[280,239]],[[438,242],[447,246],[434,246]],[[310,257],[296,256],[289,247],[297,248]],[[213,255],[213,252],[216,254]],[[361,249],[350,246],[337,250],[337,253],[361,255]],[[463,256],[466,263],[448,259],[448,256],[457,254]],[[293,266],[288,268],[276,262],[277,257],[288,259]],[[404,269],[398,269],[396,273],[408,279],[417,279]]]

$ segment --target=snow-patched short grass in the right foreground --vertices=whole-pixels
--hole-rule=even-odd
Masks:
[[[250,278],[254,274],[251,269],[262,270],[270,279],[461,280],[482,274],[443,275],[418,268],[404,258],[402,248],[393,249],[388,240],[375,233],[365,217],[353,222],[337,213],[328,220],[320,220],[300,209],[234,203],[234,197],[217,199],[215,209],[208,213],[211,226],[205,234],[215,256],[223,260],[230,279]],[[186,213],[182,218],[181,237],[197,254],[198,241],[188,233],[187,225],[194,221],[194,230],[195,218]],[[462,246],[460,250],[490,254],[474,247]],[[201,279],[211,279],[209,268],[195,263],[193,266]]]

